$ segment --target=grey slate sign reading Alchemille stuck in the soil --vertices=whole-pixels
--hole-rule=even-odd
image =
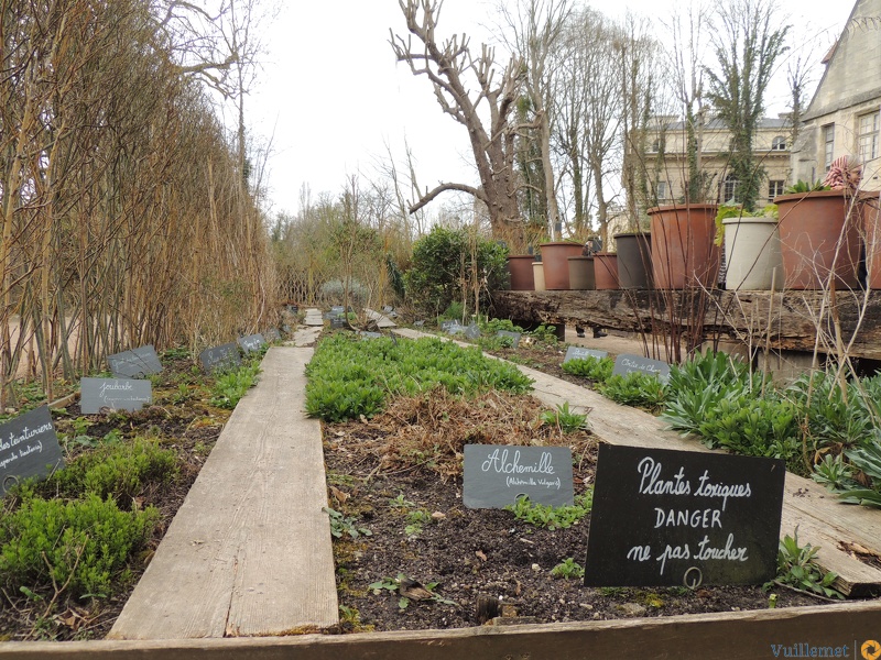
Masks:
[[[536,504],[572,506],[568,447],[466,444],[461,498],[468,508],[503,508],[521,495]]]

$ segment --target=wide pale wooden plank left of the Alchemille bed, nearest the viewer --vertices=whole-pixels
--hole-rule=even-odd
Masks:
[[[338,622],[305,348],[271,348],[110,639],[273,636]]]

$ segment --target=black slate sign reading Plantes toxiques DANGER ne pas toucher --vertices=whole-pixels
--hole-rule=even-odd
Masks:
[[[779,459],[600,444],[585,585],[771,580],[785,475]]]

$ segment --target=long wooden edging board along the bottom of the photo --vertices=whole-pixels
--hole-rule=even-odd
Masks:
[[[879,620],[881,620],[881,604],[870,602],[611,622],[482,626],[455,630],[149,641],[6,642],[0,645],[0,658],[703,660],[718,657],[726,660],[755,660],[774,657],[811,657],[792,652],[796,650],[809,653],[811,648],[842,648],[847,654],[839,657],[860,658],[860,647],[867,640],[878,639],[881,636]],[[784,650],[788,650],[788,654],[784,654]]]

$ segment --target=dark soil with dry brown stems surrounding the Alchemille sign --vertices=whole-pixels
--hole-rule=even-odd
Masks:
[[[555,364],[562,361],[552,350],[545,353]],[[511,409],[519,405],[527,414],[541,408],[531,397],[505,398],[493,429],[483,417],[485,402],[471,410],[437,403],[444,414],[432,415],[425,413],[432,407],[426,397],[399,400],[373,420],[325,427],[331,507],[350,517],[356,529],[370,532],[357,538],[344,534],[335,540],[344,631],[467,627],[493,614],[551,623],[769,606],[770,593],[759,586],[588,588],[578,579],[554,578],[551,571],[567,559],[584,565],[589,516],[568,529],[550,530],[518,521],[508,510],[466,508],[460,468],[454,474],[450,459],[461,444],[475,441],[468,438],[476,427],[485,435],[482,442],[490,438],[508,444],[536,442],[529,431],[521,435],[522,425],[515,419],[512,422]],[[414,437],[432,440],[433,460],[425,459],[429,444]],[[537,441],[572,443],[576,495],[592,483],[592,438],[581,432]],[[407,461],[414,455],[423,457],[421,464]],[[460,455],[457,459],[460,465]],[[413,516],[427,521],[413,527]],[[407,580],[436,583],[437,595],[402,601],[395,582],[406,586]],[[371,588],[380,582],[391,588]],[[786,588],[771,593],[777,607],[820,604]],[[487,604],[499,610],[487,615]]]

